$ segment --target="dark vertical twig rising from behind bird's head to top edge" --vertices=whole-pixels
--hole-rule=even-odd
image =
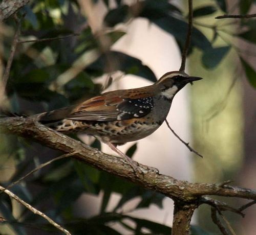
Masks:
[[[185,46],[183,48],[183,52],[181,56],[181,65],[180,65],[180,71],[182,72],[184,72],[186,67],[186,56],[187,56],[188,48],[191,41],[192,28],[193,28],[193,0],[188,0],[188,30],[187,30]]]

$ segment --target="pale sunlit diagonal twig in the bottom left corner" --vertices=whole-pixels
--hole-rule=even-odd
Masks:
[[[50,224],[52,224],[54,227],[56,227],[57,229],[59,229],[60,231],[64,232],[65,234],[71,235],[71,233],[66,230],[65,228],[62,228],[59,224],[57,224],[56,222],[54,222],[52,219],[50,219],[47,215],[45,215],[44,213],[40,212],[39,210],[37,210],[36,208],[34,208],[33,206],[31,206],[30,204],[28,204],[27,202],[23,201],[22,199],[20,199],[17,195],[13,194],[11,191],[6,190],[4,187],[2,187],[0,185],[0,190],[4,191],[7,195],[9,195],[11,198],[15,199],[17,202],[19,202],[20,204],[23,204],[24,206],[26,206],[29,210],[31,210],[31,212],[33,212],[36,215],[39,215],[43,218],[45,218]]]

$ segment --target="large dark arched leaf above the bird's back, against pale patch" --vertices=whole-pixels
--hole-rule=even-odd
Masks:
[[[153,82],[157,81],[152,70],[148,66],[143,65],[141,60],[116,51],[110,51],[100,56],[94,63],[87,67],[87,72],[92,73],[97,71],[103,73],[103,68],[105,68],[106,64],[108,64],[106,70],[109,73],[121,70],[125,74],[134,74]]]

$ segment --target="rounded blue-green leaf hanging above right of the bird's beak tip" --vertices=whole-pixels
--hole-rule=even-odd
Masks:
[[[212,48],[204,51],[202,63],[207,68],[215,68],[228,53],[230,46]]]

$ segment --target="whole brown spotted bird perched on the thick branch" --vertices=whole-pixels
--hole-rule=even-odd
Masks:
[[[166,119],[176,93],[201,79],[172,71],[152,85],[105,92],[76,105],[36,114],[36,118],[64,134],[93,135],[121,156],[134,172],[141,173],[137,162],[117,146],[155,132]]]

